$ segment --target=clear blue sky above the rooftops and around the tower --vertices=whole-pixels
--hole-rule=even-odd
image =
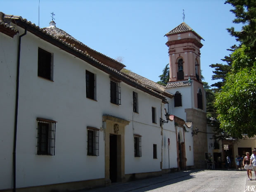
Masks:
[[[183,22],[205,41],[201,70],[209,85],[210,64],[223,63],[226,50],[237,44],[226,28],[241,25],[225,0],[40,0],[40,27],[49,26],[54,12],[56,26],[92,49],[111,58],[121,57],[129,69],[159,81],[168,63],[166,33]],[[0,0],[0,11],[19,15],[38,25],[39,0]]]

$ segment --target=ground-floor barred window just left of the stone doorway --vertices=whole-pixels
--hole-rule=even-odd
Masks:
[[[99,156],[99,129],[87,127],[87,155]]]

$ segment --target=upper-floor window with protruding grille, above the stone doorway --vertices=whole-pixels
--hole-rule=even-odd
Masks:
[[[110,80],[110,102],[117,105],[121,104],[120,82],[114,79]]]

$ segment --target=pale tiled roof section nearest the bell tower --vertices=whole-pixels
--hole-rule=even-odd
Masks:
[[[150,89],[156,90],[167,97],[170,97],[170,98],[173,97],[171,93],[168,93],[165,91],[165,87],[163,85],[160,85],[154,81],[151,81],[127,69],[122,69],[121,72],[126,73],[128,76],[134,78],[137,82],[142,83],[143,85],[147,86]]]

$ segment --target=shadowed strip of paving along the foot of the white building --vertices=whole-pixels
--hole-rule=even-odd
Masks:
[[[78,190],[76,192],[129,192],[129,191],[140,189],[150,185],[155,185],[157,183],[164,183],[168,180],[182,178],[187,175],[190,175],[191,173],[197,173],[199,171],[204,171],[204,170],[193,169],[190,171],[168,173],[159,177],[135,180],[127,183],[116,183],[107,187],[84,189],[84,190]]]

